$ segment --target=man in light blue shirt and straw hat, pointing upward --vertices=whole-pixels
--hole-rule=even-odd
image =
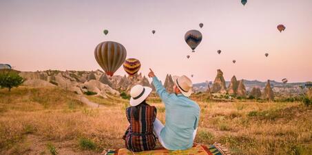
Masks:
[[[158,141],[167,150],[187,150],[193,146],[200,108],[196,102],[189,99],[193,84],[187,76],[174,76],[174,93],[167,93],[166,89],[149,69],[149,78],[153,78],[156,92],[165,103],[165,126],[158,119],[154,121],[154,132]]]

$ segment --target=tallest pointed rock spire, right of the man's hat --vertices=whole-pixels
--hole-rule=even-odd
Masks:
[[[211,93],[227,93],[227,87],[225,86],[225,78],[220,69],[217,71],[216,79],[211,88]]]

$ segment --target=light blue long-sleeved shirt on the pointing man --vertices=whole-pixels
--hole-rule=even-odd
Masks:
[[[165,103],[166,123],[160,136],[169,150],[187,150],[193,146],[193,133],[198,127],[200,108],[183,94],[169,94],[156,76],[156,92]]]

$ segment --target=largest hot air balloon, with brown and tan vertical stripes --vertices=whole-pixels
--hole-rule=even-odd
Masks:
[[[105,73],[112,76],[125,61],[127,51],[120,43],[105,41],[96,46],[94,56]]]

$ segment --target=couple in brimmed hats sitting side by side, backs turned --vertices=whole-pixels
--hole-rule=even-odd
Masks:
[[[128,150],[141,152],[153,150],[156,137],[167,150],[187,150],[193,146],[200,108],[189,99],[192,83],[187,76],[174,76],[174,93],[169,94],[156,78],[152,69],[149,78],[153,79],[156,92],[165,103],[165,126],[156,118],[156,107],[146,103],[152,88],[136,85],[131,91],[130,107],[126,110],[130,125],[123,136]]]

